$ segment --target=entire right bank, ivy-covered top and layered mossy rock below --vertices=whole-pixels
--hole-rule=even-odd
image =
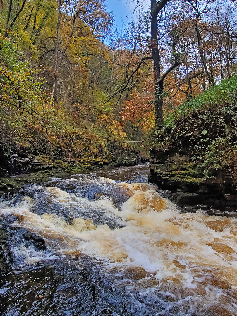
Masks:
[[[185,102],[164,129],[151,131],[149,181],[171,191],[169,197],[179,205],[191,206],[186,210],[235,215],[236,125],[234,76]]]

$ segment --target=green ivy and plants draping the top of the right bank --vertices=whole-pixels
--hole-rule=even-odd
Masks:
[[[205,178],[225,169],[236,183],[236,122],[237,76],[233,76],[174,109],[165,120],[164,130],[153,131],[150,138],[156,149],[177,146],[184,150]]]

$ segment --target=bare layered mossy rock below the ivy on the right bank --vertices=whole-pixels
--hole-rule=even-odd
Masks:
[[[177,146],[161,151],[150,150],[149,181],[164,197],[169,197],[186,211],[204,210],[210,215],[236,216],[236,191],[227,170],[204,179],[202,170],[191,160],[191,153]]]

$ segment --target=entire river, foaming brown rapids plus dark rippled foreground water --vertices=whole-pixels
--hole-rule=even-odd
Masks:
[[[52,178],[2,201],[2,314],[236,315],[236,220],[181,214],[147,174],[141,164]]]

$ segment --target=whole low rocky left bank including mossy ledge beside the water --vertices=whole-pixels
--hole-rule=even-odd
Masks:
[[[60,177],[67,173],[81,173],[101,168],[133,166],[148,161],[148,156],[134,147],[124,148],[111,144],[109,155],[82,160],[65,153],[54,156],[39,156],[32,150],[0,143],[0,196],[12,194],[27,183],[49,181],[51,176]],[[12,177],[14,175],[14,177]],[[18,176],[17,176],[18,175]]]

